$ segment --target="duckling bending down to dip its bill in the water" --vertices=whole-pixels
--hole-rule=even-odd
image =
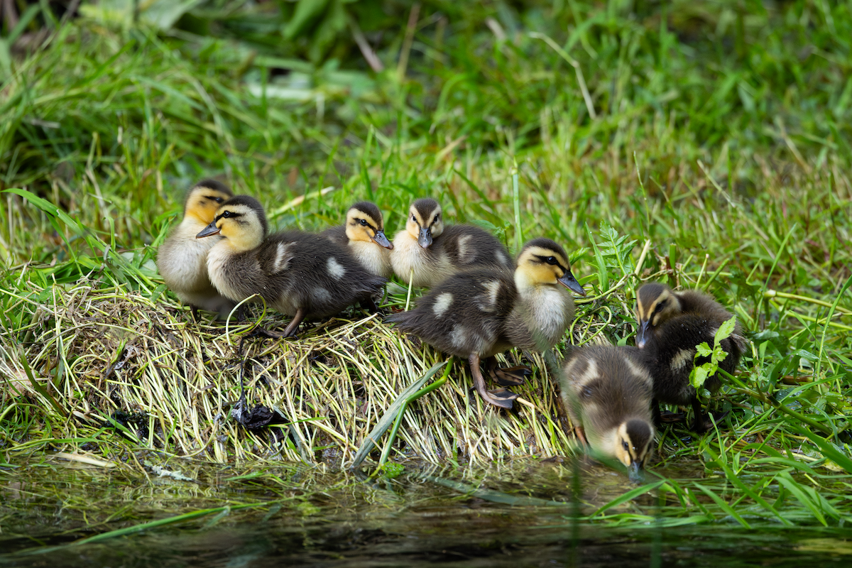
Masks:
[[[625,464],[637,480],[653,450],[653,379],[636,360],[636,347],[574,349],[561,377],[561,397],[594,454]]]

